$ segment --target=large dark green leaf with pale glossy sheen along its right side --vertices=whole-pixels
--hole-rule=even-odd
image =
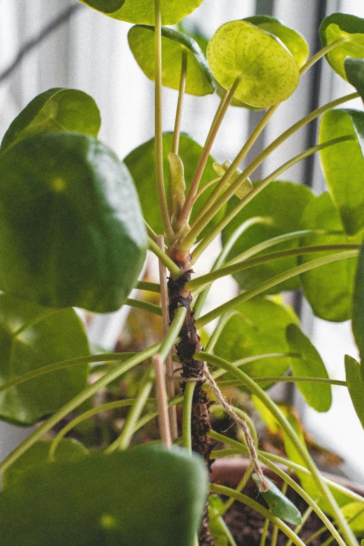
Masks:
[[[0,161],[0,289],[111,312],[139,275],[146,233],[126,167],[93,137],[41,133]]]

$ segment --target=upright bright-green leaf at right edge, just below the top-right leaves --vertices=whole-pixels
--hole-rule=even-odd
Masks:
[[[335,109],[322,116],[320,144],[345,135],[353,140],[327,146],[320,158],[344,230],[355,235],[364,227],[364,112]]]

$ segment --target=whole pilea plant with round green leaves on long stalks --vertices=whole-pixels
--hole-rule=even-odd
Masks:
[[[135,24],[128,39],[140,68],[155,81],[156,134],[121,162],[97,139],[100,114],[93,99],[51,89],[3,137],[0,414],[18,425],[39,425],[0,464],[1,544],[236,545],[222,520],[236,500],[266,517],[261,544],[273,522],[289,544],[302,546],[300,531],[313,510],[340,546],[357,545],[364,499],[321,476],[298,421],[266,388],[294,381],[317,411],[330,408],[332,384],[348,388],[364,425],[363,367],[346,356],[346,378],[329,379],[296,314],[274,296],[302,289],[318,317],[352,317],[364,351],[364,114],[342,107],[364,97],[364,20],[327,17],[322,49],[309,57],[304,38],[273,17],[228,22],[208,41],[184,33],[183,24],[179,30],[162,26],[180,23],[202,0],[84,3]],[[280,103],[324,56],[355,89],[298,120],[241,170]],[[174,130],[165,134],[162,85],[179,91]],[[201,147],[181,133],[183,96],[214,92],[220,105]],[[266,111],[236,158],[218,163],[211,149],[230,105]],[[264,180],[250,181],[272,151],[319,116],[317,145]],[[316,197],[280,180],[316,152],[328,192]],[[195,262],[219,236],[222,251],[211,272],[194,278]],[[159,283],[138,281],[147,248],[159,259]],[[234,275],[241,293],[204,312],[211,284],[224,275]],[[137,300],[128,298],[135,287]],[[161,305],[151,303],[148,292],[160,293]],[[137,353],[91,354],[73,307],[112,312],[121,305],[160,315],[164,338]],[[218,326],[202,350],[198,332],[213,319]],[[88,384],[90,363],[104,365]],[[86,409],[84,402],[141,364],[132,398]],[[227,402],[225,388],[252,395],[280,428],[287,458],[259,450],[252,420]],[[176,405],[183,407],[182,423]],[[128,413],[105,453],[90,454],[89,446],[66,438],[78,423],[118,407]],[[243,436],[211,429],[217,407]],[[157,416],[162,441],[130,448],[133,434]],[[238,488],[209,484],[211,462],[236,454],[250,457]],[[282,491],[261,463],[283,480]],[[268,508],[241,492],[252,471]],[[285,496],[287,485],[306,501],[304,515]]]

